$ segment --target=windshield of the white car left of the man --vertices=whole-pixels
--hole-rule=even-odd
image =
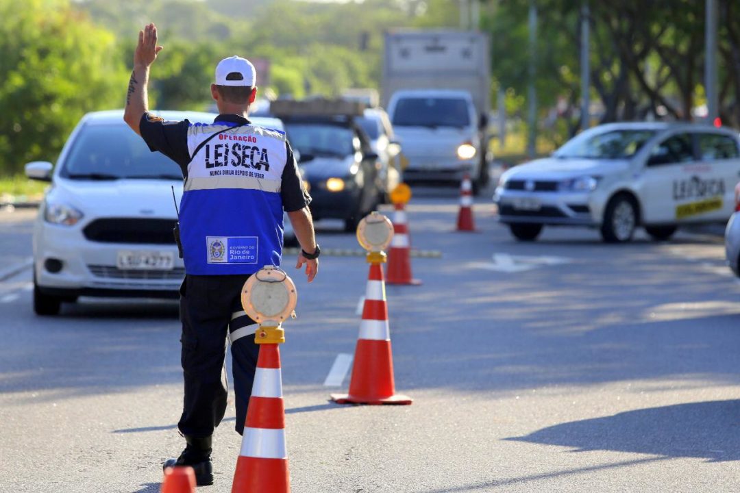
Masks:
[[[76,180],[149,178],[181,180],[182,171],[124,124],[86,125],[77,134],[60,171]]]

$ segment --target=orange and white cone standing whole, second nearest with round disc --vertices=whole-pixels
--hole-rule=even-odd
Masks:
[[[411,404],[411,398],[396,394],[393,381],[386,285],[380,265],[385,261],[386,254],[382,252],[368,255],[370,272],[349,394],[332,394],[332,401],[337,404]]]

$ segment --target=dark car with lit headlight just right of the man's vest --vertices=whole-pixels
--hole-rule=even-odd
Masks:
[[[365,132],[352,118],[281,118],[310,187],[314,219],[341,219],[354,231],[383,200],[380,163]]]

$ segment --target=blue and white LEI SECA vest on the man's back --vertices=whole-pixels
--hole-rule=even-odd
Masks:
[[[188,274],[250,274],[280,265],[286,137],[251,124],[188,129],[189,152],[216,132],[187,166],[180,237]]]

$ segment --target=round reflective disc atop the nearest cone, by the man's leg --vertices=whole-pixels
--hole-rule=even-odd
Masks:
[[[283,322],[293,313],[297,300],[293,280],[272,265],[252,274],[241,290],[241,306],[259,324]]]

